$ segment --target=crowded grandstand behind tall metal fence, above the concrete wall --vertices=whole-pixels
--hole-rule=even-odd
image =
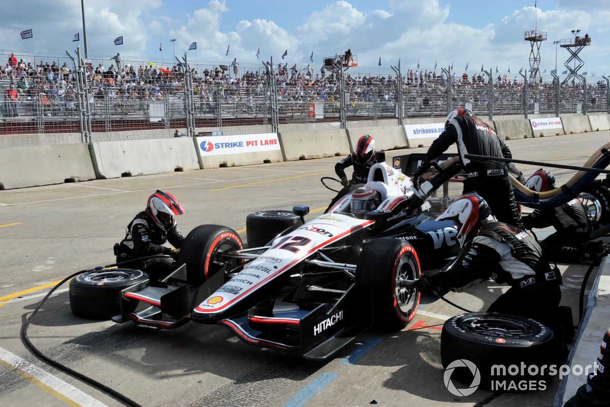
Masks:
[[[489,119],[610,113],[607,77],[558,85],[558,79],[528,83],[523,75],[512,82],[493,79],[490,72],[458,79],[450,69],[403,75],[400,66],[392,67],[394,76],[351,76],[336,64],[327,76],[312,78],[276,69],[271,61],[262,73],[230,78],[219,69],[199,71],[186,62],[154,74],[154,68],[146,74],[98,73],[80,57],[74,64],[69,73],[13,70],[0,76],[0,147],[160,138],[176,132],[323,130],[357,127],[361,121],[387,126],[442,118],[464,106]]]

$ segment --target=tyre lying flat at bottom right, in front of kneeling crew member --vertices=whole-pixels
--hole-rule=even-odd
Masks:
[[[511,314],[458,315],[445,321],[440,335],[443,368],[447,369],[456,360],[470,361],[479,370],[481,386],[487,389],[492,388],[492,380],[548,380],[546,375],[539,375],[540,369],[536,372],[532,368],[528,372],[527,367],[557,364],[558,353],[550,328],[531,318]],[[522,363],[526,366],[524,374]],[[494,365],[504,366],[506,370],[495,367],[492,375]],[[512,374],[511,366],[517,366],[519,372]],[[451,374],[453,377],[464,383],[473,381],[472,372],[468,369],[455,369]]]

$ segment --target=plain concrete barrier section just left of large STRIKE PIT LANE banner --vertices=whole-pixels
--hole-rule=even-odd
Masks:
[[[199,169],[189,137],[99,141],[91,146],[91,160],[96,177],[101,179]]]

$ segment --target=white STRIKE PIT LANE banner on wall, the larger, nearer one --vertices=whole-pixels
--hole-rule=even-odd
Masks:
[[[279,150],[276,133],[197,137],[201,157]]]

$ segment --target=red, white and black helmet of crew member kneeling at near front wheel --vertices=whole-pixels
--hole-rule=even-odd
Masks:
[[[485,200],[476,193],[464,194],[450,203],[450,205],[436,218],[437,221],[453,220],[458,227],[458,242],[460,247],[468,239],[479,232],[483,221],[493,220],[492,211]]]

